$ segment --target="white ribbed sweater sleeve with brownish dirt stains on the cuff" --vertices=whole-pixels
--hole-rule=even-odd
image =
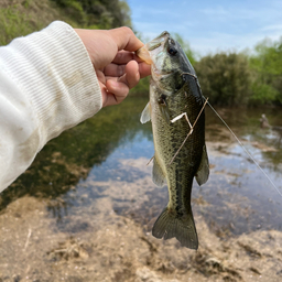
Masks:
[[[64,22],[0,47],[0,192],[45,143],[101,108],[88,53]]]

